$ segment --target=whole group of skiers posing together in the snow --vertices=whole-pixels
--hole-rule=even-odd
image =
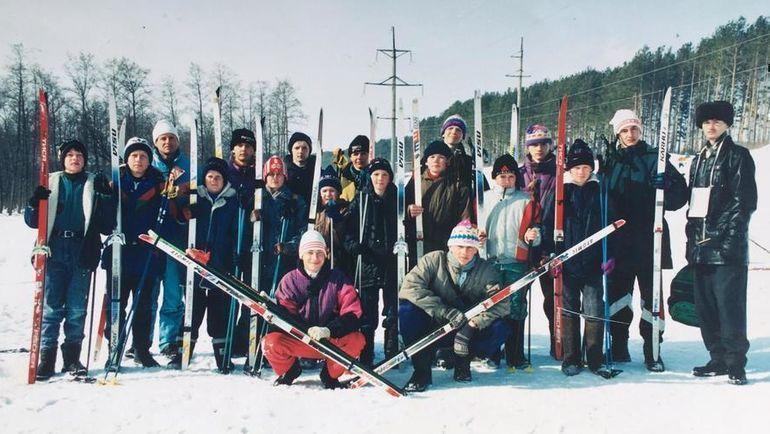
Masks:
[[[653,219],[655,193],[665,191],[665,209],[689,202],[687,260],[694,266],[695,305],[710,361],[693,375],[729,375],[734,384],[746,383],[746,276],[748,223],[756,208],[754,164],[749,152],[733,143],[727,129],[733,108],[724,101],[702,104],[696,124],[705,136],[693,161],[689,183],[670,164],[657,174],[657,148],[641,135],[643,125],[631,110],[618,110],[610,123],[615,140],[603,155],[594,155],[582,140],[566,154],[564,190],[564,248],[625,219],[626,225],[608,239],[603,252],[597,244],[566,262],[557,272],[564,282],[561,310],[562,371],[583,367],[599,373],[605,362],[605,303],[607,276],[610,324],[609,352],[615,362],[629,362],[629,324],[632,293],[638,285],[642,300],[639,329],[648,370],[665,370],[653,357]],[[294,133],[287,155],[269,156],[255,167],[257,140],[248,129],[232,132],[228,161],[212,158],[203,166],[197,202],[190,197],[190,160],[170,122],[158,121],[153,143],[134,137],[127,141],[120,168],[120,189],[103,175],[86,171],[87,147],[76,140],[58,147],[61,171],[49,178],[50,190],[38,187],[30,198],[25,219],[37,222],[38,203],[47,199],[49,230],[45,304],[38,378],[55,375],[59,330],[63,372],[81,372],[86,304],[98,264],[110,272],[111,249],[102,249],[100,234],[113,232],[117,197],[121,198],[122,297],[118,316],[125,324],[128,295],[135,299],[128,353],[143,367],[160,364],[150,353],[154,325],[159,349],[169,367],[181,366],[185,268],[138,236],[158,232],[180,248],[189,244],[187,225],[195,218],[194,245],[210,254],[209,265],[250,282],[251,222],[261,222],[260,291],[273,293],[285,313],[308,327],[313,339],[328,339],[362,364],[375,362],[374,336],[384,329],[385,358],[398,353],[425,334],[451,323],[455,332],[411,357],[414,372],[405,390],[424,391],[432,383],[433,366],[454,369],[456,381],[471,381],[471,360],[482,358],[511,369],[529,365],[524,352],[527,291],[509,301],[466,318],[464,312],[490,294],[541,264],[556,252],[554,209],[556,158],[551,133],[544,125],[526,130],[526,156],[519,164],[504,154],[493,164],[484,194],[486,225],[477,227],[474,187],[476,170],[464,140],[467,126],[455,115],[441,128],[441,139],[430,143],[415,176],[421,180],[421,203],[416,203],[412,179],[406,186],[406,213],[397,217],[397,188],[390,162],[371,158],[370,142],[357,136],[346,158],[335,158],[318,180],[318,216],[307,229],[313,170],[313,142]],[[342,152],[336,152],[336,157]],[[318,153],[320,155],[320,153]],[[255,177],[261,170],[262,176]],[[255,179],[261,178],[259,185]],[[261,189],[262,205],[254,210],[254,192]],[[416,219],[423,220],[424,255],[417,257]],[[246,219],[246,221],[244,221]],[[409,271],[398,287],[394,245],[397,225],[404,225],[409,245]],[[239,231],[239,227],[242,229]],[[668,228],[663,232],[662,264],[671,268]],[[479,250],[483,249],[482,258]],[[107,293],[109,294],[108,275]],[[196,279],[192,342],[197,340],[204,314],[212,338],[217,368],[233,370],[230,357],[248,350],[250,311],[239,310],[228,333],[231,298]],[[543,275],[540,287],[554,351],[553,276]],[[162,294],[162,295],[161,295]],[[380,303],[382,297],[382,303]],[[159,309],[158,309],[159,307]],[[107,327],[113,307],[106,306]],[[581,338],[581,317],[585,327]],[[157,321],[156,321],[157,319]],[[382,322],[380,323],[380,319]],[[232,336],[230,338],[230,336]],[[399,339],[400,337],[400,339]],[[232,339],[232,351],[226,351]],[[400,342],[401,341],[401,342]],[[264,356],[276,384],[289,385],[309,364],[300,359],[322,355],[279,331],[262,341]],[[585,349],[585,353],[583,352]],[[109,358],[105,369],[116,369]],[[248,366],[246,368],[249,368]],[[322,363],[324,387],[344,387],[338,378],[345,368]]]

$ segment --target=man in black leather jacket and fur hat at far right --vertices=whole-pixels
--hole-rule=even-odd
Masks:
[[[746,384],[746,277],[749,220],[757,208],[754,160],[727,134],[727,101],[701,104],[695,123],[706,141],[690,169],[687,261],[694,265],[695,309],[711,360],[696,377],[729,375]]]

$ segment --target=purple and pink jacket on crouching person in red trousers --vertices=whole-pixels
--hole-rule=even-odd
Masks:
[[[315,278],[302,266],[289,271],[281,279],[275,298],[307,326],[329,328],[333,338],[358,330],[363,314],[353,282],[341,270],[330,269],[328,263]]]

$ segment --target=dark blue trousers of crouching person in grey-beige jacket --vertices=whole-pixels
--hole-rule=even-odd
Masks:
[[[399,300],[398,321],[401,337],[407,347],[446,323],[446,321],[434,321],[424,310],[405,300]],[[451,347],[455,333],[449,333],[433,343],[431,347]],[[492,321],[489,327],[479,330],[471,339],[470,355],[483,358],[495,354],[510,334],[511,328],[505,321],[502,319]]]

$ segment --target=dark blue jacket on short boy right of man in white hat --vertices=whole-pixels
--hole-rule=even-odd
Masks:
[[[195,247],[211,254],[209,265],[231,273],[238,243],[238,198],[228,182],[215,197],[198,186]]]

